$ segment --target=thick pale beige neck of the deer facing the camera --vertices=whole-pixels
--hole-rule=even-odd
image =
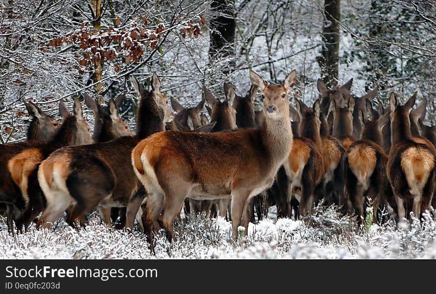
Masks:
[[[290,120],[284,118],[275,120],[266,117],[261,136],[263,146],[271,156],[271,165],[278,168],[292,148],[293,136]]]

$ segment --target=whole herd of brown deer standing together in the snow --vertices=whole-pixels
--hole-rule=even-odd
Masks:
[[[156,74],[152,91],[132,77],[136,135],[118,117],[124,94],[108,106],[85,94],[95,116],[92,136],[79,99],[73,114],[60,101],[61,124],[24,102],[33,117],[27,141],[0,145],[0,202],[9,229],[13,222],[27,227],[41,212],[38,228],[51,228],[64,212],[70,225],[84,226],[86,214],[99,208],[108,226],[116,220],[131,230],[138,219],[154,250],[160,228],[175,239],[183,207],[185,214],[228,212],[236,239],[239,225],[247,234],[254,211],[261,219],[271,205],[278,217],[294,211],[298,218],[324,198],[359,222],[368,204],[374,222],[386,216],[382,211],[401,220],[436,206],[436,129],[423,124],[425,99],[412,110],[416,93],[404,105],[392,93],[389,107],[379,103],[376,110],[377,89],[359,98],[350,92],[352,80],[336,89],[319,80],[321,98],[312,107],[295,98],[294,108],[288,96],[295,70],[281,85],[253,71],[250,79],[245,97],[225,83],[224,101],[206,88],[196,107],[171,99],[174,115]],[[254,110],[258,92],[262,111]],[[211,122],[202,113],[206,101]]]

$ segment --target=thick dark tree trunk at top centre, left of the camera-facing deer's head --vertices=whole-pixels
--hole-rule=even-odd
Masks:
[[[211,9],[211,62],[215,58],[231,57],[234,52],[235,19],[233,17],[234,0],[212,0]],[[233,62],[229,62],[231,67]]]

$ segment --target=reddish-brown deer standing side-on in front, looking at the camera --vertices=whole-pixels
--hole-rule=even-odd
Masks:
[[[149,193],[145,229],[152,250],[158,219],[167,238],[174,239],[173,221],[186,196],[231,197],[232,237],[236,239],[247,200],[272,185],[292,147],[287,96],[296,83],[296,71],[282,85],[266,84],[253,71],[250,79],[262,92],[265,121],[261,129],[210,134],[167,131],[133,149],[135,173]],[[245,233],[248,221],[244,213]]]

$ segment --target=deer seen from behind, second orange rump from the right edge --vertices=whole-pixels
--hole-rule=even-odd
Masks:
[[[373,222],[378,222],[379,205],[389,182],[386,178],[387,155],[384,154],[379,118],[373,115],[370,100],[359,109],[358,118],[364,126],[361,139],[348,147],[344,155],[345,197],[350,199],[359,223],[364,222],[366,197],[371,198]],[[369,112],[370,120],[367,120]]]

